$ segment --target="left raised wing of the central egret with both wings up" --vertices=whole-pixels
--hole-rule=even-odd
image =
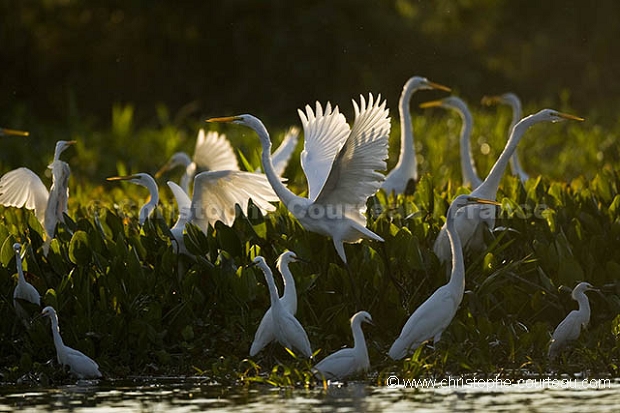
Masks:
[[[297,111],[304,129],[304,149],[301,167],[308,181],[308,198],[312,201],[323,189],[329,171],[340,148],[350,133],[349,125],[338,106],[333,110],[330,103],[325,111],[316,102],[316,113],[306,105],[306,113]]]

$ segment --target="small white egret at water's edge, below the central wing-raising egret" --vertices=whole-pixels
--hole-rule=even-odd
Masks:
[[[321,360],[313,368],[317,378],[344,379],[351,374],[370,368],[362,323],[372,323],[372,317],[366,311],[359,311],[351,317],[353,348],[343,348]]]

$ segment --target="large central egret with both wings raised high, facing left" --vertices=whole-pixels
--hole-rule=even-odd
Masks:
[[[291,192],[274,170],[271,140],[263,123],[252,115],[213,118],[207,122],[232,122],[248,126],[258,134],[262,146],[262,167],[280,201],[301,225],[313,232],[332,237],[338,255],[347,262],[344,244],[363,238],[383,241],[366,228],[362,210],[375,194],[384,175],[376,170],[386,167],[389,111],[385,101],[372,95],[368,104],[363,96],[360,106],[353,101],[355,121],[350,128],[345,117],[327,104],[325,111],[317,102],[316,113],[306,106],[299,110],[304,128],[301,165],[308,181],[309,197]]]

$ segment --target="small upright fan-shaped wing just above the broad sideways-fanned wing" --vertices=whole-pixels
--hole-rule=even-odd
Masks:
[[[203,129],[198,132],[194,162],[199,171],[238,171],[239,163],[226,135]]]

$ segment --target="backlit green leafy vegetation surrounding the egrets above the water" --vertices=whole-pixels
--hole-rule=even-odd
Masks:
[[[252,210],[247,214],[251,218],[239,211],[232,228],[218,223],[208,234],[190,226],[186,245],[196,259],[177,257],[169,237],[176,211],[163,185],[176,175],[160,181],[158,215],[138,226],[146,191],[105,182],[105,177],[154,173],[172,152],[191,152],[197,127],[204,125],[198,120],[179,127],[161,108],[156,126],[140,127],[132,107],[115,106],[109,130],[94,130],[76,119],[69,132],[39,126],[29,138],[3,138],[3,153],[15,154],[3,163],[3,171],[23,165],[43,173],[56,139],[76,139],[78,144],[63,155],[73,171],[69,216],[47,256],[43,229],[30,211],[1,212],[0,381],[66,377],[55,363],[47,363],[55,358],[49,324],[37,319],[26,330],[16,320],[15,241],[27,245],[24,268],[45,305],[58,311],[65,343],[94,358],[109,377],[199,374],[220,383],[309,383],[311,364],[281,346],[247,358],[269,295],[260,271],[246,265],[258,254],[273,264],[287,249],[309,261],[291,268],[298,286],[297,318],[313,349],[320,350],[318,359],[351,345],[348,320],[356,310],[372,315],[375,326],[364,328],[372,370],[360,376],[371,383],[383,384],[392,373],[403,378],[520,377],[585,371],[617,377],[620,154],[615,136],[620,129],[596,121],[540,125],[527,133],[520,152],[533,178],[523,187],[516,178],[505,177],[497,225],[510,230],[489,233],[488,249],[466,256],[467,292],[441,342],[434,350],[421,347],[404,361],[387,358],[408,315],[446,281],[432,243],[449,201],[466,191],[459,185],[455,150],[459,122],[447,122],[455,118],[443,111],[414,116],[423,176],[412,195],[394,199],[379,193],[368,201],[369,227],[385,243],[345,247],[354,285],[331,241],[304,231],[281,206],[267,216]],[[474,119],[474,153],[485,175],[504,145],[509,115],[474,110]],[[225,132],[247,165],[258,167],[254,134],[235,126]],[[390,166],[398,150],[396,122],[392,135]],[[484,145],[490,148],[486,155],[480,150]],[[539,173],[543,177],[536,177]],[[304,190],[297,158],[285,175],[295,192]],[[551,365],[546,358],[550,332],[576,308],[570,294],[558,288],[572,288],[582,280],[603,292],[589,293],[588,332],[559,364]]]

